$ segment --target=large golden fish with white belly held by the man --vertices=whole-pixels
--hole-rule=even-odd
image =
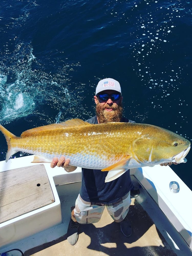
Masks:
[[[35,154],[33,162],[70,158],[70,164],[110,171],[106,182],[129,168],[184,162],[190,142],[166,129],[138,123],[89,124],[72,119],[27,130],[16,137],[0,125],[8,151],[6,162],[18,151]]]

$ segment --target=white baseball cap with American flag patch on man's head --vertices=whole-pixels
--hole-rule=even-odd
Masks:
[[[95,95],[105,90],[114,90],[121,93],[120,83],[113,78],[102,79],[96,87]]]

